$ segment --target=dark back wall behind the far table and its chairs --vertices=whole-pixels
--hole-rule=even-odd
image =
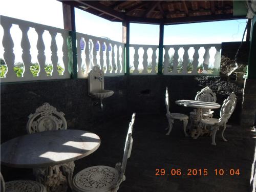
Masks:
[[[237,106],[229,123],[240,123],[243,88],[236,83],[227,81],[225,77],[207,76],[129,76],[127,78],[128,111],[139,113],[166,113],[165,87],[168,87],[170,97],[170,112],[189,114],[193,111],[175,104],[178,99],[195,99],[196,93],[206,86],[217,95],[217,102],[222,104],[231,92],[238,98]],[[215,110],[215,118],[220,117],[220,109]]]

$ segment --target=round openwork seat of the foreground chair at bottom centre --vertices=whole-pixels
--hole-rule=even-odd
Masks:
[[[73,186],[75,191],[111,191],[118,177],[118,170],[113,167],[92,166],[75,175]]]

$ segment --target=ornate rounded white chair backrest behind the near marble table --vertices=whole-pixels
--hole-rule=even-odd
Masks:
[[[29,134],[51,130],[66,130],[67,121],[64,113],[57,112],[49,103],[44,103],[29,115],[27,132]]]

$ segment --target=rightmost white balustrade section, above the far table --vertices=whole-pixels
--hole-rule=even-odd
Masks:
[[[172,48],[174,49],[174,53],[170,55],[169,50]],[[189,49],[191,48],[194,49],[193,55],[189,54]],[[200,48],[203,48],[202,50],[205,50],[205,52],[203,53]],[[180,49],[184,49],[183,55],[179,55],[178,51]],[[215,53],[210,53],[211,49],[215,49]],[[218,76],[221,61],[220,51],[221,44],[164,46],[163,74]],[[214,58],[214,62],[212,63],[209,62],[211,57]],[[202,63],[199,63],[200,58],[203,60]],[[198,70],[200,66],[203,69]]]

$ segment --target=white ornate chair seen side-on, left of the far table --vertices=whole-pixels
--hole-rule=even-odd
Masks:
[[[168,94],[168,88],[165,89],[165,105],[166,105],[166,117],[168,119],[168,127],[169,129],[166,135],[169,135],[170,132],[173,129],[173,123],[175,119],[179,119],[180,121],[183,121],[183,130],[186,137],[188,137],[188,134],[186,132],[187,122],[188,122],[188,116],[181,113],[170,113],[169,112],[169,94]]]

